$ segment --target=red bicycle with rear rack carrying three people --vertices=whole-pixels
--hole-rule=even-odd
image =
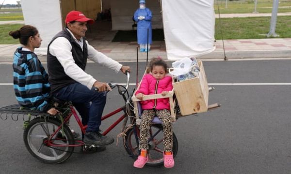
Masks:
[[[131,97],[134,94],[134,89],[129,94],[129,73],[127,73],[126,87],[118,84],[111,84],[112,89],[117,87],[118,93],[124,99],[125,105],[114,110],[113,112],[102,116],[101,120],[105,120],[117,113],[124,112],[113,124],[111,124],[105,131],[106,135],[113,130],[123,120],[122,133],[124,135],[124,147],[131,158],[137,159],[140,154],[138,150],[139,145],[139,126],[136,124],[136,117],[133,112],[133,104]],[[64,101],[57,100],[59,104],[64,104]],[[25,130],[23,133],[23,140],[27,150],[33,157],[41,160],[44,163],[62,163],[67,160],[74,152],[74,147],[82,146],[85,150],[94,149],[96,145],[85,145],[82,140],[74,140],[73,134],[66,125],[71,116],[74,116],[83,134],[87,128],[82,125],[81,120],[74,109],[72,103],[68,102],[67,107],[57,107],[63,114],[62,116],[50,116],[49,114],[32,111],[30,109],[19,110],[19,105],[10,105],[0,108],[0,117],[6,113],[23,114],[36,116],[29,122],[25,123]],[[6,119],[7,119],[6,115]],[[3,118],[2,118],[3,119]],[[127,122],[129,120],[129,124]],[[163,145],[162,145],[162,125],[153,124],[149,130],[150,137],[148,138],[148,157],[147,165],[156,166],[163,164]],[[178,139],[173,132],[173,156],[178,153]]]

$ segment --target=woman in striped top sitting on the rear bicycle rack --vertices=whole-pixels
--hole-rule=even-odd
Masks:
[[[59,111],[50,105],[49,76],[33,52],[42,39],[38,30],[25,25],[9,35],[18,39],[23,46],[16,49],[13,61],[13,82],[16,100],[21,106],[36,108],[41,112],[56,115]]]

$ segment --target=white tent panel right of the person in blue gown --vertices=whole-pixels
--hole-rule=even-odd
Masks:
[[[168,59],[214,51],[213,0],[162,0],[162,17]]]

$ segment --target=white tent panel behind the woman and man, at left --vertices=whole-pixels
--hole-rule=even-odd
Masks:
[[[41,47],[37,54],[47,54],[47,46],[52,37],[62,30],[61,8],[59,0],[21,0],[24,22],[39,31]]]

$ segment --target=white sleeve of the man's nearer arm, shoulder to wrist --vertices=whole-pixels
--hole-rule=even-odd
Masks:
[[[64,37],[58,37],[49,45],[49,53],[55,56],[64,68],[65,74],[91,89],[97,81],[85,73],[76,63],[71,52],[72,46]]]

